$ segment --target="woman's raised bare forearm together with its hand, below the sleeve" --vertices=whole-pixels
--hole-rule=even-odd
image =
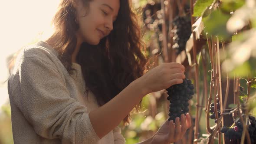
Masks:
[[[102,138],[112,131],[144,95],[182,83],[185,79],[183,72],[184,66],[179,63],[164,63],[131,82],[112,100],[89,113],[95,133]]]

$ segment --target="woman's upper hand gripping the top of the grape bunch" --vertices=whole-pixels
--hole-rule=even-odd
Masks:
[[[157,92],[169,88],[175,84],[181,84],[184,75],[185,67],[176,62],[162,63],[154,69],[149,70],[138,80],[145,93]]]

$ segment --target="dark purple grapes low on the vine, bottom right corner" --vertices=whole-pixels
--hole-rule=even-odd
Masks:
[[[237,118],[235,121],[236,126],[233,128],[228,128],[227,126],[223,126],[221,129],[221,132],[224,133],[225,137],[227,137],[231,142],[234,142],[236,144],[236,140],[241,141],[242,133],[243,133],[243,123],[240,121],[240,118]],[[248,132],[250,135],[251,144],[256,144],[256,119],[249,115],[249,121],[248,121]],[[248,142],[245,140],[244,144],[247,144]]]

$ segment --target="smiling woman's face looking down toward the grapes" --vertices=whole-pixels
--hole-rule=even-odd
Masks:
[[[97,45],[113,29],[118,15],[119,0],[92,0],[86,8],[81,0],[76,0],[76,21],[79,24],[78,41]]]

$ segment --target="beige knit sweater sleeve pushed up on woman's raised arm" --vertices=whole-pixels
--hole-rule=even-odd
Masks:
[[[59,138],[63,144],[95,144],[100,140],[86,107],[70,97],[53,62],[23,56],[19,75],[20,95],[14,98],[15,104],[39,136]]]

